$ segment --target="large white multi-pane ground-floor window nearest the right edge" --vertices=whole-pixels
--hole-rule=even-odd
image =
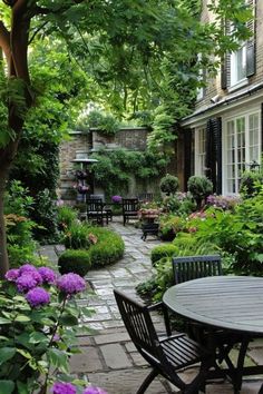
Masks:
[[[260,162],[260,114],[236,117],[226,122],[224,194],[236,194],[242,173],[252,161]]]

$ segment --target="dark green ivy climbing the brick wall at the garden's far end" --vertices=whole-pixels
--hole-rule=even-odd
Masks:
[[[125,149],[99,150],[92,158],[98,159],[91,167],[95,184],[104,188],[106,198],[127,194],[132,176],[136,181],[162,177],[169,162],[164,154]]]

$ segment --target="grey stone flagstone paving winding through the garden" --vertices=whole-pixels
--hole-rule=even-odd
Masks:
[[[91,335],[79,337],[81,354],[71,357],[71,372],[82,377],[86,376],[92,385],[105,388],[108,394],[135,394],[144,377],[148,374],[148,366],[144,358],[136,352],[135,346],[124,327],[118,313],[113,288],[120,288],[135,297],[135,286],[150,277],[150,250],[159,244],[156,237],[140,239],[142,233],[132,225],[123,226],[114,218],[110,227],[119,233],[125,242],[125,255],[115,265],[98,270],[90,270],[87,280],[94,293],[88,299],[88,305],[95,314],[82,322],[95,332]],[[56,262],[52,247],[43,247],[42,255]],[[82,301],[86,302],[86,301]],[[164,331],[159,315],[154,315],[158,331]],[[254,362],[263,363],[263,342],[257,341],[250,346],[249,357]],[[184,378],[191,378],[194,368],[182,372]],[[242,394],[257,394],[263,383],[263,377],[245,378]],[[163,380],[155,378],[146,394],[179,393],[177,388]],[[227,382],[207,385],[207,394],[233,393],[233,387]]]

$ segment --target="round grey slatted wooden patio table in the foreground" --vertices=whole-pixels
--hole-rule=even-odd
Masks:
[[[164,304],[193,322],[205,325],[211,333],[210,346],[216,347],[215,329],[222,328],[230,337],[241,337],[240,359],[235,370],[222,368],[232,377],[238,393],[243,375],[263,373],[263,366],[243,366],[247,344],[263,336],[263,278],[252,276],[212,276],[188,280],[167,289]],[[214,339],[211,341],[211,339]],[[213,374],[212,374],[213,375]]]

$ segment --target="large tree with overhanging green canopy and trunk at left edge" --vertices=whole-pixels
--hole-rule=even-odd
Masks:
[[[8,268],[3,193],[26,125],[33,134],[56,134],[52,108],[62,112],[65,100],[74,100],[82,87],[87,100],[104,100],[116,112],[171,102],[176,108],[187,80],[198,83],[197,69],[213,69],[212,53],[247,38],[251,14],[243,0],[211,0],[211,7],[217,18],[208,24],[198,21],[198,0],[0,2],[0,275]],[[230,38],[222,33],[224,18],[234,26]],[[66,57],[56,49],[62,42]],[[48,46],[57,51],[50,83]],[[202,63],[196,63],[198,52]],[[43,114],[49,97],[52,108]]]

